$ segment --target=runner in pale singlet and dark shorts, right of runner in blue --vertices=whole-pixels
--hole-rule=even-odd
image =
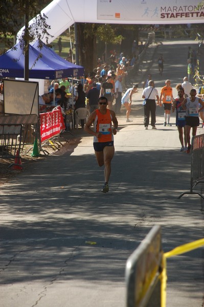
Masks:
[[[199,103],[201,107],[199,108]],[[190,97],[184,99],[182,103],[183,109],[186,110],[186,137],[188,142],[187,153],[191,151],[190,132],[192,128],[192,136],[196,136],[197,126],[199,126],[199,112],[204,108],[204,101],[199,97],[196,97],[196,90],[190,91]]]

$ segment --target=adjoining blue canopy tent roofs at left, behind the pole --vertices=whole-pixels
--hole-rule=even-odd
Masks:
[[[19,43],[0,56],[1,78],[24,78],[24,54]],[[36,48],[35,48],[36,47]],[[29,45],[29,78],[58,79],[83,76],[84,68],[58,56],[46,45],[42,49]]]

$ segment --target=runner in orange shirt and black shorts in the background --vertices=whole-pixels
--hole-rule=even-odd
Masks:
[[[171,117],[171,106],[173,102],[173,94],[172,94],[172,87],[171,81],[166,80],[166,85],[162,87],[161,95],[160,95],[160,105],[164,104],[164,126],[171,126],[170,124],[170,117]]]

